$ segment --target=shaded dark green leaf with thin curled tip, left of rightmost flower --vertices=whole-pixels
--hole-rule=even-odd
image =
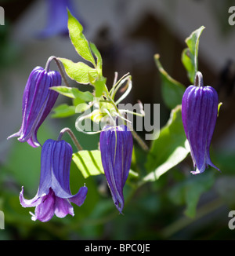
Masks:
[[[166,106],[172,109],[181,104],[186,88],[183,84],[168,75],[164,68],[162,68],[159,58],[159,54],[154,56],[155,63],[161,75],[161,95]]]

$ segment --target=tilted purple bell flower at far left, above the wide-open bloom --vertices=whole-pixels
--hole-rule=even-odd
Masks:
[[[38,129],[49,115],[59,95],[49,88],[60,85],[61,75],[58,71],[45,71],[42,67],[36,67],[31,71],[24,89],[21,128],[8,139],[19,137],[20,142],[27,141],[34,148],[40,146],[37,139]]]

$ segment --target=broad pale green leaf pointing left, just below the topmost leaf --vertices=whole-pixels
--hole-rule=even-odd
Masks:
[[[63,63],[67,75],[78,83],[89,84],[89,75],[93,79],[97,78],[98,74],[96,69],[89,67],[83,62],[74,63],[72,60],[67,60],[65,58],[59,58],[59,60]]]

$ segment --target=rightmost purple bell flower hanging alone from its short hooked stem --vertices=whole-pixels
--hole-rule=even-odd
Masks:
[[[189,86],[183,94],[182,119],[190,144],[193,165],[192,174],[201,174],[208,165],[219,170],[210,158],[210,145],[218,114],[218,94],[211,86],[203,86],[201,72],[196,79],[199,86]]]

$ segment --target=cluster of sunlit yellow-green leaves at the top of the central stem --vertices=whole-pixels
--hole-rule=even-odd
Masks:
[[[95,92],[90,93],[89,91],[81,92],[76,87],[67,87],[67,86],[56,86],[52,87],[52,90],[56,90],[58,93],[70,97],[74,99],[73,106],[69,106],[67,104],[62,104],[59,107],[54,109],[54,114],[52,117],[54,118],[63,118],[70,115],[74,115],[76,112],[75,107],[78,108],[89,108],[82,106],[85,102],[93,101],[94,97],[101,97],[103,93],[106,92],[106,81],[107,79],[103,77],[102,65],[103,60],[99,53],[99,50],[92,42],[88,42],[83,35],[83,27],[81,24],[71,15],[68,11],[68,30],[71,38],[71,42],[74,46],[74,49],[78,53],[80,57],[84,60],[87,60],[89,64],[92,64],[93,68],[89,66],[89,64],[85,64],[84,62],[78,61],[74,63],[72,60],[68,60],[66,58],[58,58],[60,62],[63,64],[63,68],[67,74],[67,76],[83,85],[92,85],[94,87]],[[93,55],[96,59],[93,57]]]

